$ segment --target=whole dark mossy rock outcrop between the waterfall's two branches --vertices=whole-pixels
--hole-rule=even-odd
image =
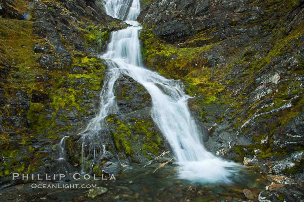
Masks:
[[[119,114],[112,114],[106,119],[118,151],[126,154],[128,161],[138,163],[161,154],[166,146],[164,137],[151,118],[151,96],[147,90],[132,78],[121,76],[116,81],[114,95]]]

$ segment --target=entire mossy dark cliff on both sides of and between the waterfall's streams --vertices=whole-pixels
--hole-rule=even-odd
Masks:
[[[147,68],[180,79],[212,153],[254,167],[281,189],[260,201],[297,201],[304,179],[304,1],[141,1]],[[56,172],[62,137],[81,166],[77,131],[95,116],[109,34],[127,25],[97,0],[0,1],[0,176]],[[106,118],[107,162],[147,162],[168,150],[151,98],[132,78],[116,82]],[[85,147],[87,153],[89,148]],[[88,157],[89,161],[89,157]],[[78,165],[79,164],[79,165]],[[77,167],[78,165],[78,167]],[[100,169],[103,168],[103,169]],[[116,172],[119,165],[111,166]],[[87,168],[89,169],[89,168]],[[298,195],[294,194],[298,193]]]

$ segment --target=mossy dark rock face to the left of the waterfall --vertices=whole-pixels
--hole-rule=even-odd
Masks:
[[[95,116],[106,68],[95,56],[111,31],[127,26],[101,8],[0,1],[0,185],[12,171],[54,171],[61,138]]]

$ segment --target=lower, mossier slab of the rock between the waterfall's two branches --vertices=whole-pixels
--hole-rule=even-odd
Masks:
[[[114,114],[113,114],[114,115]],[[143,162],[158,156],[164,149],[164,138],[150,116],[150,110],[108,116],[113,141],[118,151],[131,162]],[[148,153],[153,153],[153,156]]]

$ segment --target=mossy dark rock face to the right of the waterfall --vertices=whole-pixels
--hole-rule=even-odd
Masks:
[[[155,0],[138,18],[147,67],[184,82],[205,147],[279,184],[303,180],[303,3]]]

